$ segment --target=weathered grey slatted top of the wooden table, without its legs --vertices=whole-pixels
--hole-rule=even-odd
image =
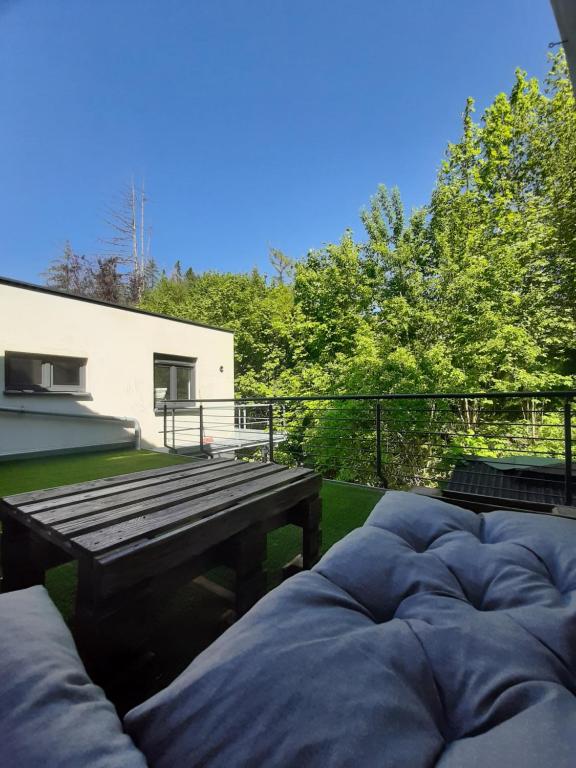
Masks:
[[[109,559],[200,530],[227,510],[320,478],[311,469],[217,459],[49,488],[3,499],[3,511],[76,557]],[[273,508],[273,505],[272,505]]]

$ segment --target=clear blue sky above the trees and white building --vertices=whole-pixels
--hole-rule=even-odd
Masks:
[[[548,0],[0,0],[0,274],[94,253],[132,175],[167,268],[360,237],[557,39]]]

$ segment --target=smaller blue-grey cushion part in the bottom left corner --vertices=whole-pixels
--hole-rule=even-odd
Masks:
[[[44,587],[0,595],[2,768],[145,768]]]

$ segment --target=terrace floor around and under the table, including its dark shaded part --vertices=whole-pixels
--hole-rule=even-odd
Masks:
[[[153,451],[113,451],[77,454],[43,459],[27,459],[0,463],[0,497],[15,493],[69,485],[100,477],[155,469],[169,464],[186,463],[190,459]],[[381,497],[381,491],[324,481],[323,546],[325,552],[349,531],[362,525]],[[287,526],[268,536],[268,586],[281,581],[282,566],[300,552],[299,529]],[[233,578],[221,568],[207,574],[222,586],[233,588]],[[76,568],[67,563],[50,570],[46,587],[69,621],[72,616]],[[156,654],[149,683],[139,696],[160,690],[178,675],[204,648],[223,631],[221,616],[229,607],[223,597],[208,591],[201,584],[191,582],[168,599],[154,606],[151,640]],[[107,691],[120,710],[137,703],[122,690]]]

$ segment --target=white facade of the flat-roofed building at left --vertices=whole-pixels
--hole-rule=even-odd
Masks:
[[[45,391],[50,364],[42,364],[43,391],[15,388],[18,353],[31,365],[36,365],[36,356],[38,366],[40,358],[63,361],[58,375],[64,379],[64,358],[83,361],[79,386],[67,391],[74,387],[58,386],[55,376],[55,386]],[[134,435],[128,423],[82,416],[136,419],[142,447],[162,447],[155,356],[167,364],[193,361],[193,399],[234,397],[230,332],[0,279],[0,457],[122,443]],[[13,409],[54,415],[32,416]],[[75,418],[69,418],[72,415]]]

